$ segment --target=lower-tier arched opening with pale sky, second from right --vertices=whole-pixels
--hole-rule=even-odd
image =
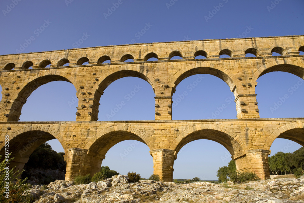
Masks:
[[[236,155],[234,152],[241,153],[242,149],[230,135],[214,129],[202,129],[182,138],[175,151],[177,159],[174,161],[174,179],[199,177],[201,180],[217,180],[216,171],[219,167],[228,165],[231,156]]]

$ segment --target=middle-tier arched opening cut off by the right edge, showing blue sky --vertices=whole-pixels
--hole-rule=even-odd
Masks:
[[[290,71],[293,74],[281,71]],[[268,73],[261,73],[255,88],[260,117],[303,117],[304,80],[298,77],[303,77],[303,70],[291,65],[289,68],[286,65],[277,65],[265,72]]]

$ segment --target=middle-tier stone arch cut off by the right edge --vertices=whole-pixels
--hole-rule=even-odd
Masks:
[[[269,62],[261,66],[254,73],[253,79],[256,81],[262,75],[274,71],[288,72],[304,79],[304,63],[301,63],[299,61],[291,61],[291,60],[275,60]]]

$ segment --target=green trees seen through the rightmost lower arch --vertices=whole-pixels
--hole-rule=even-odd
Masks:
[[[292,152],[278,152],[268,159],[270,174],[294,173],[297,178],[304,173],[304,147]]]

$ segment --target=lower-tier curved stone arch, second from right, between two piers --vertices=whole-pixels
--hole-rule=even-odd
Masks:
[[[234,159],[245,155],[244,149],[241,147],[244,141],[240,136],[229,128],[216,124],[199,124],[182,131],[172,142],[169,149],[178,153],[187,143],[198,139],[218,142],[230,152]]]

